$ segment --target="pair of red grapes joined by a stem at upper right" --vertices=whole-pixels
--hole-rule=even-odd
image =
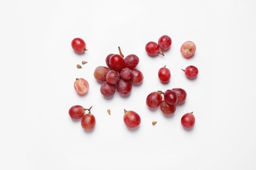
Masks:
[[[145,50],[150,56],[157,56],[158,54],[164,56],[163,51],[171,47],[171,42],[171,37],[163,35],[158,39],[158,43],[154,41],[146,43]]]

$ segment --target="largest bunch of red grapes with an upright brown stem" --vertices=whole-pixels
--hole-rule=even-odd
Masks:
[[[123,56],[121,48],[118,47],[119,54],[108,54],[105,62],[107,66],[95,68],[95,79],[102,83],[100,93],[106,98],[113,97],[116,91],[122,96],[127,97],[132,90],[132,85],[142,83],[144,76],[139,69],[139,58],[135,54]]]

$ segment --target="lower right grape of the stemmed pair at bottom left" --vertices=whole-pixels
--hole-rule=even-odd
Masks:
[[[81,118],[81,126],[85,131],[92,131],[95,127],[95,116],[91,113],[84,114]]]

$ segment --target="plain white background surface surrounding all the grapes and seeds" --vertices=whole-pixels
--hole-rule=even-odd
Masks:
[[[253,0],[1,1],[0,169],[255,169],[255,7]],[[161,35],[171,37],[171,49],[150,58],[144,46]],[[87,43],[85,54],[72,50],[75,37]],[[192,59],[179,51],[188,40],[197,46]],[[93,71],[117,46],[139,56],[144,82],[127,98],[107,100]],[[164,65],[169,84],[157,76]],[[196,80],[181,71],[188,65],[198,67]],[[84,97],[74,90],[77,77],[89,81]],[[188,96],[174,116],[146,107],[148,93],[176,87]],[[72,105],[93,105],[94,131],[70,119]],[[139,129],[125,127],[123,109],[140,114]],[[181,116],[191,111],[196,124],[186,131]]]

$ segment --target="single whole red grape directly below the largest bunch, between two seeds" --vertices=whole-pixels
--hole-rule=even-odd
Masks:
[[[133,110],[125,110],[123,115],[123,122],[129,129],[136,129],[140,125],[140,116],[137,112]]]

